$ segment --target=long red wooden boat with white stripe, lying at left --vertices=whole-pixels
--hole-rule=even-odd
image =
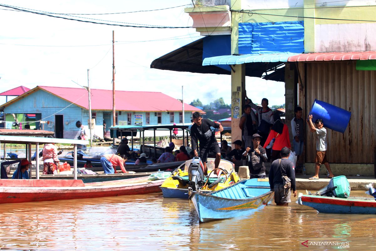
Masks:
[[[161,192],[164,180],[147,177],[83,183],[82,180],[0,180],[0,203],[55,201]]]

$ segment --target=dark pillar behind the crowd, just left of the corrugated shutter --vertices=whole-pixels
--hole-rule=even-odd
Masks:
[[[294,106],[295,106],[295,66],[294,63],[285,64],[285,107],[286,107],[286,119],[285,123],[290,132],[290,143],[293,145],[293,134],[291,133],[291,120],[294,118]]]

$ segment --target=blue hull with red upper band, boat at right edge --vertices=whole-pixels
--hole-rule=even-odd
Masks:
[[[316,209],[319,213],[376,214],[376,201],[372,197],[347,199],[326,196],[302,195],[298,204]]]

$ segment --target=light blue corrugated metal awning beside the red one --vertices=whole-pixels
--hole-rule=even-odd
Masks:
[[[202,65],[218,64],[246,64],[255,62],[287,62],[291,56],[301,55],[300,53],[274,53],[274,54],[247,54],[247,55],[226,55],[205,58]]]

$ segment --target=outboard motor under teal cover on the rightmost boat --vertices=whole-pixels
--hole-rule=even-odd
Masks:
[[[347,198],[350,196],[350,183],[346,176],[341,175],[331,178],[329,185],[321,190],[318,190],[315,194],[320,196]]]

